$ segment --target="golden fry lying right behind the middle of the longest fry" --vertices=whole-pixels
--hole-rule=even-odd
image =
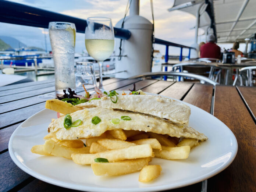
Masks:
[[[128,141],[122,141],[120,139],[99,139],[97,141],[101,146],[105,147],[106,149],[113,150],[113,149],[122,149],[130,146],[135,146],[135,143],[131,143]],[[146,143],[144,143],[146,144]]]

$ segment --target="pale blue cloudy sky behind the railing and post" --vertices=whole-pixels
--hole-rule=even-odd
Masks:
[[[109,17],[113,25],[124,17],[127,0],[11,0],[16,3],[25,4],[32,7],[45,9],[77,18],[86,19],[88,17]],[[182,45],[191,46],[195,37],[196,18],[194,15],[167,9],[172,7],[173,0],[153,0],[155,37]],[[150,0],[140,1],[140,15],[152,21],[150,11]],[[199,31],[199,34],[202,34]],[[35,28],[6,24],[0,22],[0,36],[11,36],[28,46],[36,46],[45,49],[45,36],[47,50],[51,50],[48,29]],[[85,50],[85,35],[77,33],[76,52],[82,53]],[[199,41],[205,40],[205,36],[199,37]],[[225,47],[226,46],[226,47]],[[231,45],[225,45],[230,48]],[[165,54],[165,46],[155,45],[154,49]],[[242,49],[241,49],[242,50]],[[178,47],[169,47],[170,55],[178,55]],[[243,50],[242,50],[243,51]],[[184,49],[184,55],[188,50]]]

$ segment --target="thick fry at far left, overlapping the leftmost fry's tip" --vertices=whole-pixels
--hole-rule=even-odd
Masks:
[[[82,147],[82,148],[72,148],[60,145],[59,143],[54,142],[52,139],[48,139],[45,141],[43,145],[43,150],[46,153],[49,153],[58,157],[65,157],[67,159],[71,159],[72,153],[89,153],[90,147]]]

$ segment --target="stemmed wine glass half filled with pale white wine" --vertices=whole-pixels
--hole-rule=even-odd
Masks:
[[[110,18],[89,17],[85,28],[85,47],[89,55],[99,63],[99,88],[102,89],[103,61],[114,50],[114,29]]]

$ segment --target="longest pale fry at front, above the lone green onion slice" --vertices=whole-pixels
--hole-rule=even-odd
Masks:
[[[149,144],[136,145],[124,149],[115,149],[95,154],[72,154],[72,160],[81,165],[92,164],[96,158],[105,158],[109,162],[122,161],[125,159],[137,159],[151,157],[152,147]]]

